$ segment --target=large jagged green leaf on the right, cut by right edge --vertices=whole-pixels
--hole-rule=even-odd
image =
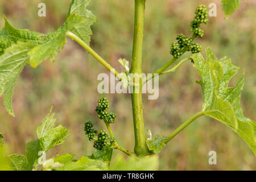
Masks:
[[[229,88],[230,79],[236,75],[238,67],[226,57],[217,60],[208,47],[207,60],[200,53],[194,54],[194,67],[201,81],[197,81],[203,90],[203,112],[217,119],[242,137],[256,154],[256,123],[243,115],[241,92],[244,85],[244,72],[237,84]]]

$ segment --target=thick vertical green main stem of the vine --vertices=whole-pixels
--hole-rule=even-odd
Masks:
[[[144,31],[144,10],[145,0],[135,0],[135,18],[134,18],[134,39],[133,39],[133,59],[131,62],[130,73],[142,73],[142,46],[143,46],[143,31]],[[144,121],[143,121],[143,106],[142,106],[142,85],[139,80],[139,93],[135,93],[135,86],[131,94],[131,103],[133,105],[133,121],[135,134],[134,152],[137,155],[147,155],[148,148],[146,144]]]

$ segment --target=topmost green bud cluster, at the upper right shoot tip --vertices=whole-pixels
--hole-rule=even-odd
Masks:
[[[205,5],[200,5],[197,7],[195,11],[195,18],[191,22],[191,32],[194,32],[197,37],[202,38],[204,36],[204,31],[200,28],[200,24],[204,23],[207,24],[209,22],[208,17],[208,11],[207,7]]]

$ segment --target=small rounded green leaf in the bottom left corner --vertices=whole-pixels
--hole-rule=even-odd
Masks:
[[[27,158],[24,155],[12,154],[9,155],[10,168],[13,171],[24,171],[27,167]]]

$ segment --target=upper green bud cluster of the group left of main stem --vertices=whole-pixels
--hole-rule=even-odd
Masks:
[[[108,123],[114,123],[115,117],[117,117],[114,113],[108,113],[109,109],[109,101],[106,98],[101,98],[98,100],[98,106],[96,107],[96,113],[98,114],[99,119],[105,119]]]

